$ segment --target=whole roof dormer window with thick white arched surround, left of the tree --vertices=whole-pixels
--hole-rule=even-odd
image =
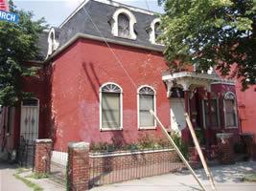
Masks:
[[[130,11],[123,8],[115,11],[111,21],[112,34],[135,40],[134,24],[136,22],[135,16]]]

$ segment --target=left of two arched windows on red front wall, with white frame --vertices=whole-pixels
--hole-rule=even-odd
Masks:
[[[115,83],[106,83],[100,90],[101,130],[121,130],[123,128],[122,89]]]

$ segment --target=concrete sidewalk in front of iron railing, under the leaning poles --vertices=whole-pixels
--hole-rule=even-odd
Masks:
[[[216,166],[211,168],[214,180],[219,191],[255,191],[256,182],[242,182],[244,174],[254,170],[256,172],[256,162],[239,162],[234,165]],[[196,173],[203,184],[212,190],[210,183],[206,180],[202,169]],[[157,177],[145,178],[141,180],[129,180],[100,187],[94,187],[91,191],[192,191],[201,190],[198,182],[189,174],[184,173],[167,174]]]

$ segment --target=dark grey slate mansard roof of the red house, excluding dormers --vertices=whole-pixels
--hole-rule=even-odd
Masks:
[[[128,42],[135,45],[141,45],[149,48],[154,48],[159,51],[163,51],[163,46],[151,44],[150,34],[147,32],[147,29],[149,29],[151,25],[151,21],[154,18],[157,18],[157,14],[147,14],[143,13],[143,11],[134,11],[135,9],[133,7],[123,5],[120,3],[117,4],[119,5],[119,7],[108,5],[95,0],[90,0],[89,2],[87,2],[83,6],[83,8],[77,11],[66,23],[64,23],[60,28],[56,28],[56,31],[58,31],[58,49],[61,48],[77,33],[85,33],[98,37],[113,39],[119,42]],[[136,40],[117,37],[111,33],[111,25],[109,21],[114,12],[120,8],[128,9],[136,17],[137,23],[134,26]],[[84,9],[87,12],[84,11]],[[90,15],[91,19],[93,20],[93,22],[95,23],[100,32],[97,31],[88,14]],[[45,43],[48,43],[47,39]],[[43,45],[42,50],[45,53],[45,45]]]

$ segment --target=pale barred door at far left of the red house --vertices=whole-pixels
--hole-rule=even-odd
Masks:
[[[27,98],[21,104],[20,141],[33,143],[38,138],[39,101]]]

